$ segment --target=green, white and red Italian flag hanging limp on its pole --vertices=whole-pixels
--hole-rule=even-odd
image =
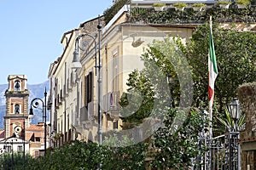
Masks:
[[[210,21],[210,36],[209,36],[209,54],[208,54],[208,94],[209,94],[209,109],[212,110],[214,97],[214,82],[218,75],[216,56],[214,51],[214,43],[212,39],[212,20]]]

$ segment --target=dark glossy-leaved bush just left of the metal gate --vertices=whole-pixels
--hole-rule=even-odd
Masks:
[[[198,147],[198,133],[204,127],[203,117],[196,111],[190,111],[182,127],[172,133],[172,123],[177,114],[180,113],[176,109],[170,110],[164,121],[165,127],[154,134],[154,147],[158,151],[152,155],[151,167],[187,169],[191,158],[204,153]]]

